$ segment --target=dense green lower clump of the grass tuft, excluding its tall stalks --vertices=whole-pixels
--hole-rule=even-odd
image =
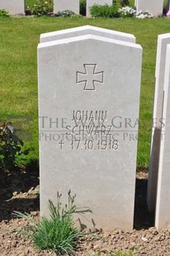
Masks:
[[[35,246],[39,249],[52,249],[56,253],[74,253],[80,236],[71,218],[47,220],[41,219],[35,234],[32,235]]]

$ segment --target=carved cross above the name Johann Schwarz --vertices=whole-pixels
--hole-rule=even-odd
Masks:
[[[96,73],[97,64],[84,64],[85,73],[77,71],[76,83],[84,83],[84,91],[96,90],[96,83],[103,83],[103,71]]]

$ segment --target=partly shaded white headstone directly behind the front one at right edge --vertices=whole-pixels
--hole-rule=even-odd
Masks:
[[[155,211],[156,193],[158,183],[158,161],[160,143],[162,140],[162,113],[163,113],[163,82],[165,74],[165,59],[167,45],[170,44],[170,33],[158,36],[156,71],[155,71],[155,91],[153,102],[153,127],[149,162],[149,184],[148,184],[148,206],[149,211]]]

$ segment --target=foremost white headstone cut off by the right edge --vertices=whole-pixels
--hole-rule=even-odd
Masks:
[[[167,57],[164,79],[163,98],[163,140],[161,140],[158,167],[158,193],[155,215],[155,226],[158,230],[170,225],[170,45],[167,46]]]

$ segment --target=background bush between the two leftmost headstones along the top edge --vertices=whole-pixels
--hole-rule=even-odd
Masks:
[[[37,0],[34,5],[27,7],[27,11],[37,17],[46,16],[53,12],[53,2],[52,0]]]

